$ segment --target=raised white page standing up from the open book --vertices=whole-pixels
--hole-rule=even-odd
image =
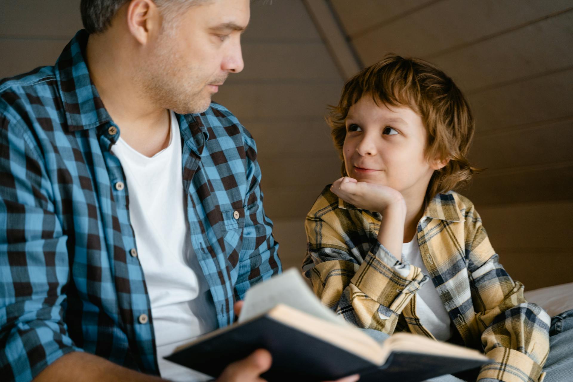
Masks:
[[[312,314],[334,324],[349,325],[344,318],[323,306],[295,268],[284,271],[268,281],[258,283],[245,295],[239,322],[260,316],[278,304]]]

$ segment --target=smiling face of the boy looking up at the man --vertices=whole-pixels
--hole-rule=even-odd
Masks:
[[[408,107],[379,104],[365,94],[348,111],[346,172],[359,182],[394,188],[405,198],[423,196],[436,166],[425,157],[427,131],[422,119]]]

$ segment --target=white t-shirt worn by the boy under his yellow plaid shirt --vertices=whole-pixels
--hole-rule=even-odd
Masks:
[[[402,262],[408,261],[410,264],[417,266],[423,274],[429,275],[426,266],[422,261],[418,237],[409,243],[402,244]],[[452,320],[448,315],[444,303],[439,298],[438,291],[435,289],[431,280],[426,281],[420,290],[416,293],[416,315],[419,317],[422,325],[439,341],[447,341],[452,337]]]

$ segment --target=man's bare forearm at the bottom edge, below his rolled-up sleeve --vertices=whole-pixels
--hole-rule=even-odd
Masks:
[[[33,382],[165,382],[89,353],[72,352],[44,369]]]

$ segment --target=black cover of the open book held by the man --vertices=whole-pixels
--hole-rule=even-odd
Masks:
[[[227,365],[260,348],[273,357],[270,370],[261,376],[269,382],[327,381],[355,373],[366,382],[415,382],[484,364],[481,360],[402,352],[392,353],[380,367],[268,316],[218,333],[166,359],[217,377]]]

